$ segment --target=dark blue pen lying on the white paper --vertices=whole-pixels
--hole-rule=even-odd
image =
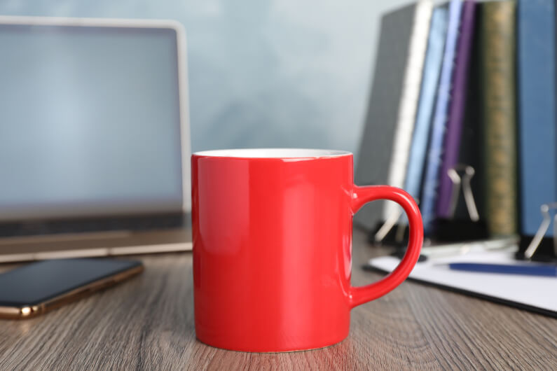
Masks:
[[[451,262],[448,267],[453,270],[467,272],[497,273],[497,274],[527,274],[529,276],[557,276],[557,265],[512,265],[490,264],[483,262]]]

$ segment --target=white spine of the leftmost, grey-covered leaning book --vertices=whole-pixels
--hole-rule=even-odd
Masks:
[[[389,167],[388,184],[394,187],[404,186],[432,10],[432,1],[423,0],[416,4]],[[385,202],[383,219],[386,221],[392,214],[396,214],[398,209],[398,204]]]

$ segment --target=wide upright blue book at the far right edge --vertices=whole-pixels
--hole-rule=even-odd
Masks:
[[[518,29],[520,232],[535,235],[542,204],[557,200],[556,44],[553,0],[521,0]],[[553,236],[549,228],[546,236]]]

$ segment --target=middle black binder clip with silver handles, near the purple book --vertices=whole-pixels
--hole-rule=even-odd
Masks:
[[[489,238],[486,222],[480,220],[472,192],[471,181],[474,174],[476,174],[474,167],[469,165],[458,164],[448,169],[447,175],[453,182],[451,203],[449,204],[451,218],[438,218],[434,221],[432,237],[436,242],[473,241]],[[455,218],[461,189],[469,219]]]

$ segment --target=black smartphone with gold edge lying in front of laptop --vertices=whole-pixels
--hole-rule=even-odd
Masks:
[[[139,274],[142,262],[57,259],[0,274],[0,318],[29,318]]]

